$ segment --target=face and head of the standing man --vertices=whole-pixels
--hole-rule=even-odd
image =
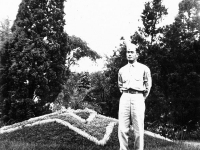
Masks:
[[[138,55],[136,53],[136,47],[132,44],[127,46],[126,50],[126,58],[128,61],[135,61],[137,59]]]

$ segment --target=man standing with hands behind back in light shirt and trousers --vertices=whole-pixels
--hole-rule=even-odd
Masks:
[[[150,69],[137,62],[136,45],[126,44],[128,64],[118,73],[118,86],[122,93],[119,103],[118,137],[120,150],[128,150],[130,125],[135,134],[135,150],[144,148],[145,99],[149,95],[152,79]]]

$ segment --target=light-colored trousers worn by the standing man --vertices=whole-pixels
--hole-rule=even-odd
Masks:
[[[145,103],[143,94],[122,94],[118,114],[120,150],[129,150],[128,137],[131,125],[135,134],[134,149],[144,149],[144,113]]]

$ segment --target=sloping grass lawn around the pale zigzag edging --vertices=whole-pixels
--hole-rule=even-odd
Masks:
[[[82,110],[74,112],[82,119],[87,119],[91,112]],[[95,142],[80,135],[77,131],[72,130],[69,126],[53,121],[45,124],[35,124],[38,121],[47,119],[60,119],[68,122],[73,127],[89,134],[97,140],[103,139],[106,134],[106,128],[111,122],[115,122],[114,128],[109,136],[109,140],[105,145],[97,145]],[[26,124],[32,124],[25,126]],[[23,125],[23,126],[22,126]],[[38,119],[28,120],[22,123],[12,125],[4,129],[12,129],[13,127],[21,128],[10,131],[1,132],[0,134],[0,150],[118,150],[119,142],[117,136],[117,120],[106,118],[102,115],[96,115],[90,122],[82,122],[78,118],[73,117],[70,113],[55,113],[40,117]],[[0,131],[3,131],[1,128]],[[133,149],[134,136],[131,133],[129,146]],[[188,145],[177,144],[165,141],[152,136],[145,135],[145,150],[198,150]]]

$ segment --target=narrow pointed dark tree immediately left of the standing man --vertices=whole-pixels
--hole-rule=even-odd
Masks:
[[[102,111],[105,115],[114,118],[118,118],[119,99],[121,96],[118,88],[118,71],[127,64],[126,46],[123,37],[121,41],[113,56],[107,58],[107,69],[103,72],[104,81],[101,83],[104,95],[103,102],[105,103]]]

